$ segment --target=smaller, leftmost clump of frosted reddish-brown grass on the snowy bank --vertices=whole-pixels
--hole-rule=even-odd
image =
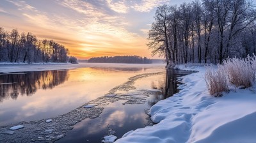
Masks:
[[[217,70],[214,70],[212,66],[205,66],[205,68],[205,81],[210,94],[221,96],[223,91],[229,91],[222,65],[218,64]]]

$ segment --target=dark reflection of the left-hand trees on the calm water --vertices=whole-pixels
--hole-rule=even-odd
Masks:
[[[68,77],[67,70],[1,74],[0,102],[9,97],[16,100],[19,95],[31,96],[40,88],[52,89]]]

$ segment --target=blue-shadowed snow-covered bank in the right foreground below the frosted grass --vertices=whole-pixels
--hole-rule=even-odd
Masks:
[[[154,126],[126,133],[116,142],[255,142],[256,88],[236,89],[212,97],[205,84],[204,66],[186,75],[174,96],[150,109]]]

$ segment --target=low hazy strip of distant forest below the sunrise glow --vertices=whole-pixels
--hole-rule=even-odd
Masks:
[[[140,63],[151,64],[152,60],[147,57],[140,56],[115,56],[115,57],[92,57],[88,59],[88,63]]]

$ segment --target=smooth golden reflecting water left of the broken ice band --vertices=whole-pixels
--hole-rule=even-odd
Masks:
[[[111,66],[113,66],[111,64]],[[118,66],[120,66],[118,64]],[[0,126],[70,112],[134,75],[163,68],[78,68],[0,74]]]

